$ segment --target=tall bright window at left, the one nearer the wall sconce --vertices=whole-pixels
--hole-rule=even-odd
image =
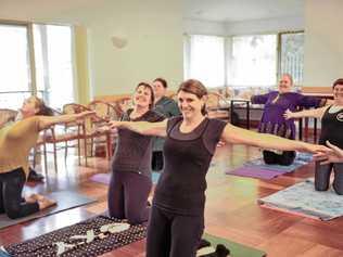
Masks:
[[[75,102],[69,26],[34,25],[37,89],[50,106]]]

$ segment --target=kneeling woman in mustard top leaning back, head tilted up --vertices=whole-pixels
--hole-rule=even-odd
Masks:
[[[23,119],[0,129],[0,214],[11,219],[45,209],[55,202],[34,194],[23,198],[22,191],[28,175],[28,155],[37,143],[39,131],[59,123],[74,121],[93,112],[47,117],[51,110],[42,100],[30,97],[22,108]]]

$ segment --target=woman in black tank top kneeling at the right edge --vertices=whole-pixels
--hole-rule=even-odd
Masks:
[[[343,79],[336,79],[332,86],[333,104],[330,106],[307,110],[297,113],[287,112],[287,118],[315,117],[321,119],[321,133],[319,144],[325,145],[327,141],[338,147],[343,147]],[[320,155],[319,155],[320,156]],[[320,165],[320,158],[316,162],[315,189],[327,191],[330,184],[331,171],[334,172],[333,190],[343,194],[343,162]]]

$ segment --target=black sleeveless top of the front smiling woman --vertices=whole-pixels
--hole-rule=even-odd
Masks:
[[[154,205],[180,215],[203,215],[206,172],[226,123],[205,118],[192,132],[181,133],[182,117],[168,120],[164,144],[165,169]]]

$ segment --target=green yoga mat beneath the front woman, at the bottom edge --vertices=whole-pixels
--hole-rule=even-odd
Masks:
[[[204,234],[203,239],[211,242],[211,245],[215,248],[217,244],[225,245],[230,249],[230,257],[264,257],[267,254],[263,250],[252,248],[242,244],[234,243],[232,241],[220,239],[211,234]]]

